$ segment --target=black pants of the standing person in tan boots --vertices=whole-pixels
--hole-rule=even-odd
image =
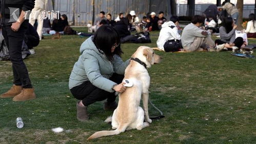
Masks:
[[[11,26],[3,26],[3,36],[12,62],[13,84],[23,88],[32,88],[28,69],[22,59],[22,43],[27,28],[28,20],[25,20],[16,32],[11,29]]]

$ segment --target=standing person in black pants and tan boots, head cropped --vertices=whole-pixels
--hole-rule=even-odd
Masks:
[[[28,69],[22,59],[22,44],[28,29],[25,11],[34,8],[34,0],[1,1],[3,36],[9,49],[13,70],[13,86],[1,98],[13,97],[13,101],[35,98]]]

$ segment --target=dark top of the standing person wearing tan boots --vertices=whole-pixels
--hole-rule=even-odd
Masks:
[[[3,25],[11,25],[16,22],[23,11],[31,11],[34,8],[35,0],[1,0],[1,22]],[[19,9],[16,11],[16,9]],[[10,14],[11,13],[11,14]],[[28,21],[28,19],[26,19]]]

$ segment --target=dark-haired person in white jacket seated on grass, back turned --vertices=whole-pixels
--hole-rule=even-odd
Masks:
[[[159,34],[159,38],[156,41],[157,47],[161,51],[169,51],[173,49],[173,46],[168,45],[170,41],[177,41],[179,44],[179,48],[182,48],[180,39],[181,35],[178,32],[178,28],[176,26],[179,25],[179,17],[172,16],[169,22],[165,22],[162,25],[162,29]],[[175,48],[174,48],[175,49]]]

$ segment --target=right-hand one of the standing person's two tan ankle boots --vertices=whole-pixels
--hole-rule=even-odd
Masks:
[[[34,88],[23,89],[22,92],[15,97],[13,97],[13,101],[25,101],[35,98]]]

